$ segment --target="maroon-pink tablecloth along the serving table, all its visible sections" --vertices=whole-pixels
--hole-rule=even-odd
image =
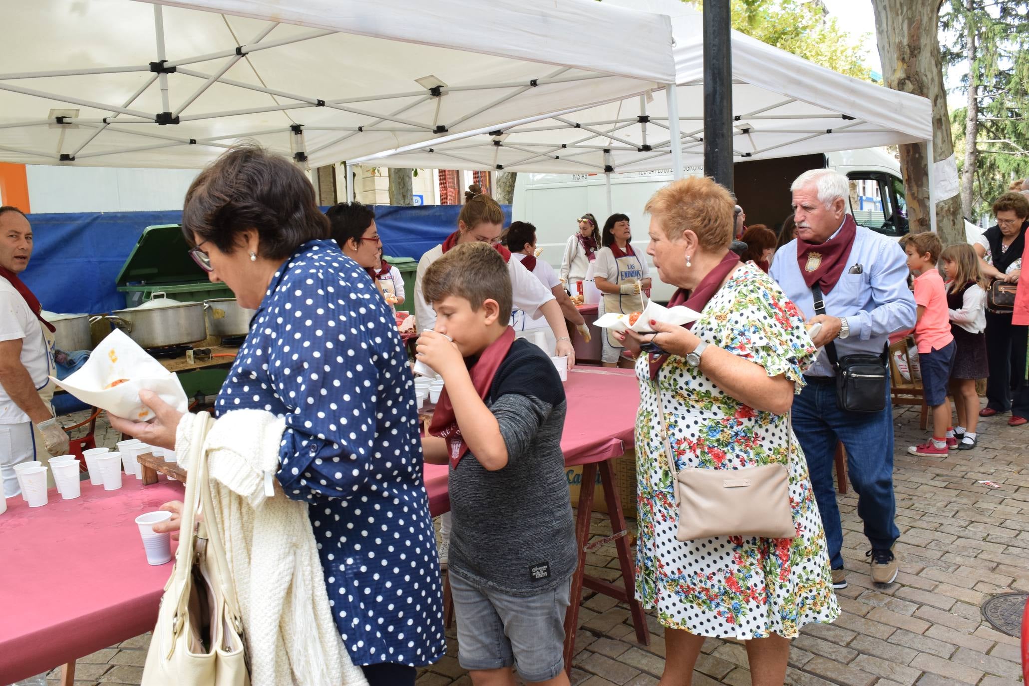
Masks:
[[[632,370],[576,367],[565,384],[561,448],[569,466],[617,457],[633,444],[639,387]],[[425,465],[433,514],[450,510],[447,466]],[[82,482],[82,496],[45,507],[21,497],[0,514],[0,684],[46,672],[153,628],[172,564],[146,564],[133,519],[182,498],[182,485],[119,491]]]

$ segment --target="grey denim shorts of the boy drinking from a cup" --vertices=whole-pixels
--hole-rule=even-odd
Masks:
[[[561,674],[571,578],[528,598],[478,588],[453,572],[450,584],[462,667],[513,665],[526,681],[546,681]]]

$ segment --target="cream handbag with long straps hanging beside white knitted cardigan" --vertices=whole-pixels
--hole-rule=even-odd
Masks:
[[[249,686],[243,619],[214,516],[204,438],[213,420],[198,414],[189,443],[179,549],[161,599],[141,686]]]

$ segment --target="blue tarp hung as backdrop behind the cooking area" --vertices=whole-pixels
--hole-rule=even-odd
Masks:
[[[503,209],[507,223],[510,206]],[[376,207],[383,252],[421,258],[455,230],[460,211],[456,205]],[[178,211],[30,214],[35,247],[22,279],[50,312],[119,310],[126,299],[115,280],[143,229],[175,224],[181,217]]]

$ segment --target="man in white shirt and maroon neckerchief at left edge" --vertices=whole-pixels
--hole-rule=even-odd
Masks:
[[[4,497],[20,493],[13,467],[68,453],[68,434],[50,407],[52,327],[19,278],[32,257],[32,226],[14,207],[0,207],[0,480]]]

